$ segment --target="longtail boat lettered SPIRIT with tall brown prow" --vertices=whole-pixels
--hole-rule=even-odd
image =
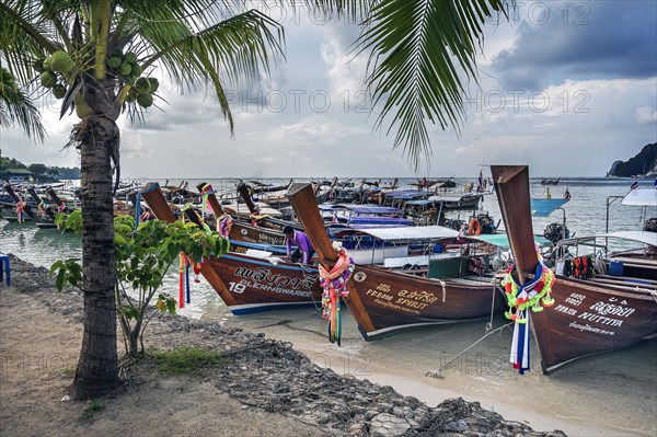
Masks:
[[[293,184],[288,197],[320,262],[330,271],[338,255],[324,231],[312,187]],[[460,266],[462,260],[454,255],[449,258]],[[440,263],[440,256],[436,256],[435,262]],[[369,341],[412,326],[482,319],[503,309],[504,297],[494,289],[491,280],[474,275],[451,277],[454,269],[440,266],[429,267],[428,277],[423,277],[356,265],[347,283],[349,292],[345,301],[364,338]],[[448,271],[451,272],[448,274]]]

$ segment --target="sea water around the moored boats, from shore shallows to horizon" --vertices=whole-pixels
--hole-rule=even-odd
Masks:
[[[265,182],[281,185],[287,181]],[[457,181],[460,186],[466,182]],[[189,181],[189,186],[196,182],[199,181]],[[235,181],[208,182],[230,189]],[[390,182],[392,179],[384,179],[381,185]],[[415,180],[400,181],[406,185],[413,182]],[[176,186],[180,183],[170,182]],[[621,206],[614,196],[625,195],[631,184],[631,180],[570,179],[550,186],[553,198],[563,197],[566,189],[573,197],[564,210],[534,218],[534,233],[542,233],[551,222],[563,222],[564,217],[572,235],[588,235],[606,229],[642,229],[646,218],[657,217],[657,210]],[[652,181],[642,181],[642,187],[652,185]],[[545,186],[532,181],[531,194],[544,197]],[[611,204],[609,209],[608,203]],[[481,209],[496,221],[500,218],[495,195],[486,195]],[[470,214],[452,211],[450,217],[460,215],[466,220]],[[0,222],[0,252],[49,267],[59,258],[80,257],[81,245],[79,238],[70,233]],[[166,277],[163,289],[177,297],[177,272]],[[657,435],[657,340],[574,361],[550,376],[542,375],[533,344],[532,369],[518,376],[509,364],[511,329],[502,327],[507,321],[499,314],[489,320],[408,330],[365,342],[345,311],[342,346],[337,346],[328,343],[326,324],[314,308],[233,317],[204,279],[199,284],[192,280],[192,303],[180,313],[265,332],[274,338],[291,342],[319,366],[391,384],[401,393],[415,395],[431,405],[446,398],[463,396],[481,402],[507,419],[529,421],[537,429],[558,428],[579,436]],[[486,327],[500,330],[481,340],[488,332]],[[441,378],[425,376],[437,369],[441,369]]]

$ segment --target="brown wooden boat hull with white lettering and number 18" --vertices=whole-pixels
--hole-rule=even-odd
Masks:
[[[205,264],[205,268],[211,268],[220,278],[222,287],[215,286],[215,290],[235,315],[321,304],[322,288],[315,268],[287,263],[273,265],[233,252]]]

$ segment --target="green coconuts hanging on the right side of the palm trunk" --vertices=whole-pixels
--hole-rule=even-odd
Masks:
[[[107,59],[107,65],[112,72],[132,85],[126,97],[128,103],[137,101],[141,107],[153,104],[153,93],[158,91],[160,83],[155,78],[140,77],[141,66],[137,61],[137,55],[132,51],[124,54],[117,48]]]

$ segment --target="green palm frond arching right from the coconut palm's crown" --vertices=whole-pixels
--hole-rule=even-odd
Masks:
[[[180,92],[211,87],[232,131],[226,89],[252,87],[262,73],[268,74],[269,66],[284,53],[283,28],[255,10],[222,19],[234,12],[237,3],[228,12],[205,1],[192,2],[194,8],[184,10],[174,8],[175,3],[180,2],[169,0],[154,11],[131,9],[130,23],[125,25],[126,35],[135,34],[130,47],[139,53],[143,69],[161,67]],[[212,16],[221,21],[203,27]]]

